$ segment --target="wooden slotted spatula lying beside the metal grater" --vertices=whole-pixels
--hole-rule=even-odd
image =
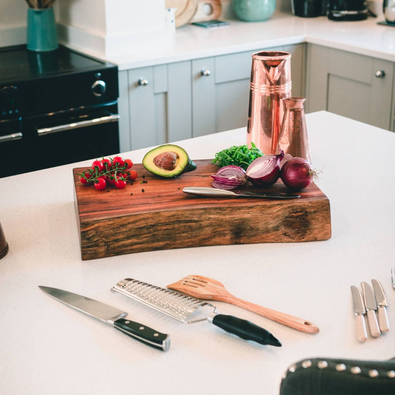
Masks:
[[[307,320],[303,320],[302,318],[290,316],[289,314],[281,313],[271,310],[270,308],[255,305],[254,303],[247,302],[243,299],[239,299],[229,293],[222,283],[213,280],[212,278],[189,275],[168,285],[167,288],[181,291],[198,299],[210,299],[231,303],[232,305],[243,307],[246,310],[250,310],[263,317],[269,318],[269,320],[279,322],[280,324],[297,329],[298,331],[307,333],[318,333],[320,331],[320,329],[318,329],[314,324]]]

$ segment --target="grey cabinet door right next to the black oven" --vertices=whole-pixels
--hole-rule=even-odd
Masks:
[[[190,61],[119,72],[121,152],[192,137]]]

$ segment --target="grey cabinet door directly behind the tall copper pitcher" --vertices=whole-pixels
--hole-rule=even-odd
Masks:
[[[256,51],[291,53],[292,95],[303,96],[305,45]],[[192,136],[212,134],[247,125],[252,53],[192,60]]]

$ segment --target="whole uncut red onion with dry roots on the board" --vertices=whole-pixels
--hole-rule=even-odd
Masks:
[[[300,191],[310,185],[317,176],[307,160],[303,158],[292,158],[281,167],[280,177],[284,185],[292,191]]]

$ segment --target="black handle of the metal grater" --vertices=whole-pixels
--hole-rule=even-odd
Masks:
[[[271,346],[280,347],[281,343],[266,329],[253,324],[250,321],[241,318],[226,316],[224,314],[216,314],[209,317],[214,325],[224,329],[229,333],[233,333],[245,340],[253,340],[259,344],[270,344]]]

